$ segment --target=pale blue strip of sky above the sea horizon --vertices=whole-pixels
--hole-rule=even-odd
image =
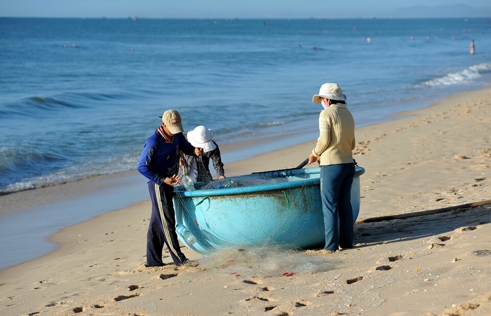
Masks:
[[[0,16],[86,18],[491,17],[491,4],[489,0],[0,0]]]

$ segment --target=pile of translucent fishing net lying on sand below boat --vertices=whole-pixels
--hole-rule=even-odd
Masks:
[[[324,256],[271,244],[216,250],[205,254],[199,265],[237,277],[293,276],[334,268]]]

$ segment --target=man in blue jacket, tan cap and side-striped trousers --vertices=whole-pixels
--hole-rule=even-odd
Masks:
[[[175,215],[172,204],[180,151],[200,156],[203,148],[195,148],[183,134],[181,115],[176,110],[167,110],[161,116],[162,124],[145,142],[138,171],[148,178],[148,191],[152,201],[152,215],[147,233],[147,266],[163,266],[164,244],[169,249],[175,265],[188,261],[181,252],[175,232]]]

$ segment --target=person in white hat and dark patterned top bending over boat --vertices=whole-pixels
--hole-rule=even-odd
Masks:
[[[193,182],[210,182],[213,176],[210,172],[210,159],[219,179],[225,178],[224,163],[221,162],[220,149],[213,140],[213,130],[206,126],[196,126],[185,134],[186,139],[194,147],[203,148],[203,155],[188,155],[184,153],[180,161],[179,176],[189,175]]]

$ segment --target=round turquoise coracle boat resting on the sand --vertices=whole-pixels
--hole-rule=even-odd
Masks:
[[[360,212],[360,175],[351,187],[353,220]],[[211,184],[196,183],[195,191],[174,187],[176,225],[194,235],[189,244],[198,253],[228,247],[281,244],[309,248],[324,244],[320,168],[287,169],[241,175]],[[253,183],[253,185],[251,185]],[[257,185],[254,185],[257,183]]]

